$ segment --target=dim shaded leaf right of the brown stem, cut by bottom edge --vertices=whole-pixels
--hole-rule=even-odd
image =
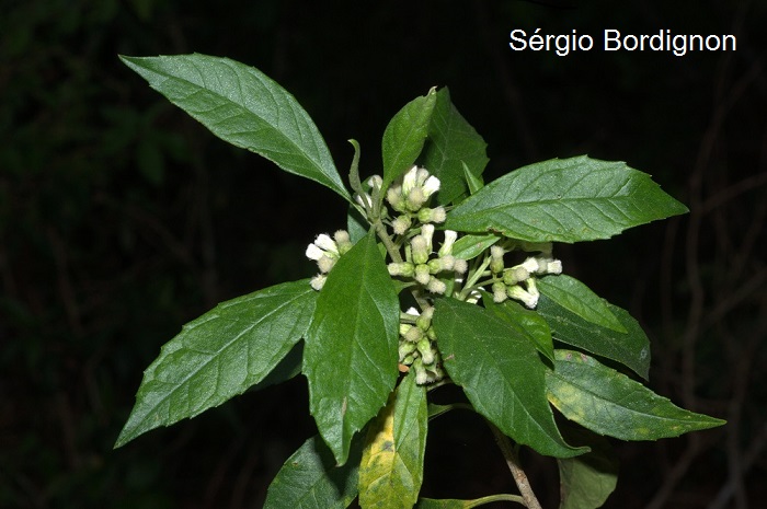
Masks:
[[[564,429],[569,441],[587,446],[591,452],[558,459],[559,509],[602,507],[618,484],[618,455],[606,438],[585,429]]]

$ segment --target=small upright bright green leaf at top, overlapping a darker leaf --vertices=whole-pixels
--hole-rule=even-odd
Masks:
[[[389,122],[384,131],[381,154],[384,157],[384,185],[389,187],[407,172],[417,159],[428,135],[428,124],[437,101],[435,89],[422,97],[405,104]]]

